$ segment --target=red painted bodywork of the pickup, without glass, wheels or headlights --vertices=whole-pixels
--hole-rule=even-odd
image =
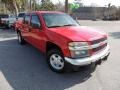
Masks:
[[[68,49],[68,43],[73,41],[87,41],[90,42],[95,39],[106,37],[105,33],[93,30],[88,27],[82,26],[64,26],[56,28],[47,28],[42,17],[42,13],[60,13],[61,12],[47,12],[36,11],[42,24],[42,29],[29,31],[30,25],[24,25],[22,21],[17,21],[15,26],[16,30],[21,30],[22,36],[26,41],[40,49],[42,52],[46,52],[46,42],[52,42],[59,46],[65,57],[70,57],[70,51]]]

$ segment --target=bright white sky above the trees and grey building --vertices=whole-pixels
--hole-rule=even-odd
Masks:
[[[58,1],[64,2],[65,0],[51,0],[53,3]],[[69,0],[70,3],[74,2],[74,0]],[[98,6],[105,6],[111,3],[112,5],[120,6],[120,0],[81,0],[84,5],[96,4]]]

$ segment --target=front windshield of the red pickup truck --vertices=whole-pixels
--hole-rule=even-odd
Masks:
[[[79,25],[67,14],[46,13],[43,14],[43,18],[48,28]]]

